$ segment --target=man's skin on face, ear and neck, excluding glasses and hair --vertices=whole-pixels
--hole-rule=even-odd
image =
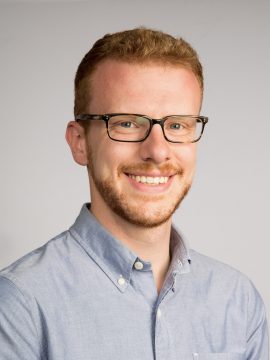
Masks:
[[[179,66],[106,60],[91,79],[88,113],[198,115],[201,89],[195,75]],[[66,139],[74,160],[88,167],[91,212],[140,258],[152,263],[159,292],[170,263],[172,215],[191,186],[196,143],[167,142],[159,125],[140,143],[109,139],[105,123],[93,121],[87,134],[71,121]],[[142,184],[129,177],[168,176],[166,184]]]

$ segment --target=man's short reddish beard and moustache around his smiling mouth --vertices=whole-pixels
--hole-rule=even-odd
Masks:
[[[93,153],[90,152],[90,154]],[[166,199],[166,196],[163,194],[136,194],[132,197],[124,191],[121,192],[116,188],[114,179],[98,178],[92,156],[89,156],[89,173],[93,180],[93,185],[106,205],[122,219],[143,228],[153,228],[167,222],[191,187],[191,182],[184,182],[183,169],[169,164],[164,164],[163,166],[157,166],[153,163],[120,165],[117,169],[117,175],[120,178],[120,176],[128,176],[126,174],[136,173],[137,171],[147,173],[153,169],[158,170],[161,174],[174,173],[176,174],[175,176],[179,176],[182,179],[179,192],[175,194],[173,199],[172,195]]]

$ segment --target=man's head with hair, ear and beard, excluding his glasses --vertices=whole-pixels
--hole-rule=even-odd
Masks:
[[[86,54],[76,74],[74,112],[198,116],[202,92],[202,67],[189,44],[135,29],[105,36]],[[168,142],[159,121],[142,142],[114,141],[105,122],[89,123],[87,129],[71,122],[67,140],[74,159],[88,167],[92,211],[141,227],[168,221],[191,185],[196,144]]]

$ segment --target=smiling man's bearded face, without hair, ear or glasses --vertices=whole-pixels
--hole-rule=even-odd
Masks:
[[[198,115],[201,90],[184,68],[107,60],[91,81],[89,113]],[[87,135],[91,202],[94,213],[109,212],[154,227],[166,222],[190,188],[196,144],[164,139],[160,125],[140,143],[111,140],[105,122],[93,121]]]

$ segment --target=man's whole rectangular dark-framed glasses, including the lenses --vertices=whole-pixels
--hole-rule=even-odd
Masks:
[[[123,142],[144,141],[149,136],[152,127],[158,124],[167,141],[182,144],[199,141],[208,122],[205,116],[168,115],[162,119],[152,119],[140,114],[83,114],[77,115],[75,120],[103,120],[106,123],[109,138]]]

